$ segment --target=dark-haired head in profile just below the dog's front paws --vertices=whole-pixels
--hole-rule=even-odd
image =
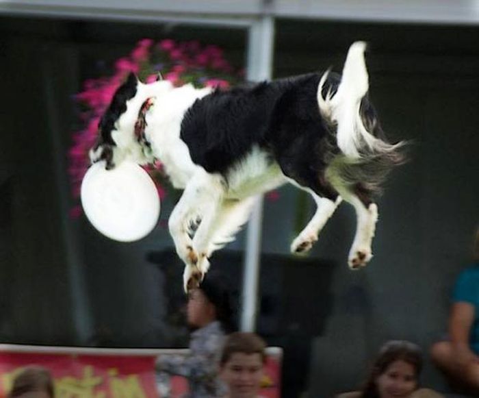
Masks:
[[[187,322],[191,327],[220,321],[225,332],[229,332],[232,313],[229,290],[219,277],[207,275],[198,288],[188,293]]]

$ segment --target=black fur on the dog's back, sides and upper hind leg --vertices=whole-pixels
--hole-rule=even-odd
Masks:
[[[268,151],[287,177],[327,195],[318,182],[324,154],[337,151],[318,108],[321,75],[311,73],[270,83],[216,90],[187,111],[181,139],[193,162],[222,173],[242,160],[253,145]],[[328,82],[335,82],[335,75]],[[320,155],[320,156],[318,156]]]

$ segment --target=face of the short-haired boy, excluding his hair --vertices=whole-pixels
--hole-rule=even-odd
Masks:
[[[221,367],[221,377],[229,388],[229,398],[253,398],[263,377],[263,360],[259,353],[235,352]]]

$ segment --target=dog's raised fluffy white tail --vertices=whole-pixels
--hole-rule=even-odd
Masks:
[[[335,94],[329,90],[325,99],[322,96],[328,72],[322,75],[318,86],[320,112],[328,121],[337,125],[337,146],[349,158],[361,158],[361,152],[364,151],[387,152],[396,147],[367,132],[361,121],[361,99],[369,88],[364,60],[365,48],[365,42],[354,42],[351,45],[344,63],[341,83]]]

